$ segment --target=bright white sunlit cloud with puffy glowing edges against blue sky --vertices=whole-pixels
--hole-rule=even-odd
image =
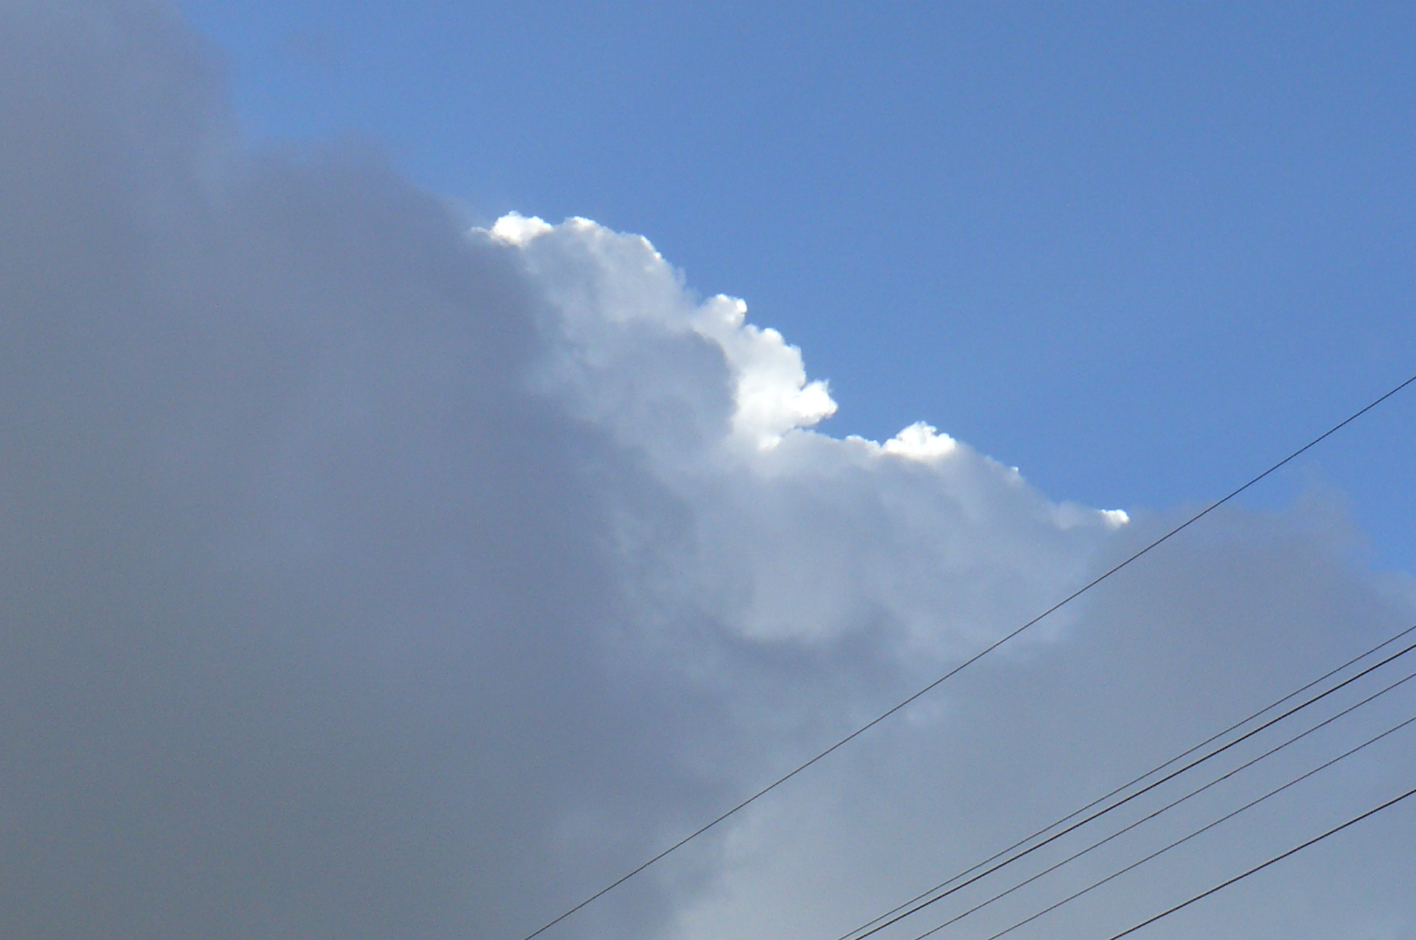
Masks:
[[[541,388],[690,515],[670,565],[657,541],[622,546],[681,582],[671,609],[756,640],[885,631],[935,668],[1061,597],[1114,529],[925,423],[884,445],[813,430],[835,403],[800,351],[741,300],[698,300],[641,236],[515,215],[498,231],[544,285]]]

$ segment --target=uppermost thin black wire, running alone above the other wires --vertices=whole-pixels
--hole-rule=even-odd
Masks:
[[[970,665],[973,665],[974,663],[977,663],[983,657],[988,655],[990,653],[993,653],[994,650],[997,650],[998,647],[1001,647],[1008,640],[1012,640],[1015,636],[1018,636],[1020,633],[1022,633],[1024,630],[1027,630],[1032,624],[1038,623],[1044,617],[1048,617],[1049,614],[1055,613],[1061,607],[1072,603],[1073,600],[1076,600],[1078,597],[1080,597],[1082,595],[1085,595],[1087,590],[1090,590],[1092,588],[1097,586],[1099,583],[1102,583],[1103,580],[1106,580],[1107,578],[1110,578],[1116,572],[1121,571],[1123,568],[1126,568],[1127,565],[1130,565],[1136,559],[1141,558],[1143,555],[1148,554],[1151,549],[1157,548],[1163,542],[1167,542],[1171,538],[1174,538],[1175,535],[1178,535],[1180,532],[1185,531],[1187,528],[1189,528],[1191,525],[1194,525],[1199,520],[1205,518],[1206,515],[1209,515],[1211,512],[1214,512],[1215,510],[1218,510],[1225,503],[1229,503],[1231,500],[1233,500],[1235,497],[1238,497],[1240,493],[1243,493],[1249,487],[1255,486],[1256,483],[1259,483],[1264,477],[1267,477],[1272,473],[1277,471],[1280,467],[1284,467],[1289,463],[1291,463],[1293,460],[1298,459],[1301,454],[1307,453],[1308,450],[1311,450],[1317,445],[1323,443],[1324,440],[1327,440],[1328,437],[1331,437],[1332,435],[1335,435],[1341,429],[1347,428],[1354,420],[1357,420],[1358,418],[1361,418],[1366,412],[1372,411],[1374,408],[1376,408],[1378,405],[1381,405],[1388,398],[1391,398],[1392,395],[1398,394],[1399,391],[1402,391],[1403,388],[1406,388],[1412,382],[1416,382],[1416,375],[1412,375],[1409,379],[1406,379],[1405,382],[1402,382],[1396,388],[1391,389],[1389,392],[1383,394],[1381,398],[1378,398],[1378,399],[1372,401],[1371,403],[1365,405],[1359,411],[1352,412],[1351,415],[1348,415],[1347,418],[1344,418],[1338,423],[1332,425],[1331,428],[1328,428],[1327,430],[1324,430],[1321,435],[1318,435],[1317,437],[1314,437],[1308,443],[1303,445],[1301,447],[1298,447],[1297,450],[1294,450],[1293,453],[1290,453],[1287,457],[1284,457],[1279,463],[1273,464],[1272,467],[1269,467],[1267,470],[1264,470],[1259,476],[1253,477],[1252,480],[1249,480],[1243,486],[1240,486],[1236,490],[1233,490],[1232,493],[1229,493],[1226,497],[1223,497],[1221,500],[1216,500],[1215,503],[1211,503],[1204,510],[1201,510],[1199,512],[1194,514],[1192,517],[1189,517],[1188,520],[1185,520],[1184,522],[1181,522],[1175,528],[1170,529],[1168,532],[1165,532],[1164,535],[1161,535],[1160,538],[1157,538],[1154,542],[1151,542],[1146,548],[1140,549],[1138,552],[1136,552],[1134,555],[1131,555],[1126,561],[1114,565],[1113,568],[1109,568],[1104,573],[1099,575],[1097,578],[1093,578],[1092,580],[1089,580],[1082,588],[1073,590],[1070,595],[1068,595],[1066,597],[1063,597],[1058,603],[1052,604],[1051,607],[1048,607],[1046,610],[1044,610],[1042,613],[1039,613],[1038,616],[1035,616],[1032,620],[1028,620],[1025,624],[1022,624],[1021,627],[1018,627],[1012,633],[1008,633],[1001,640],[997,640],[997,641],[991,643],[990,646],[984,647],[981,651],[973,654],[971,657],[969,657],[967,660],[964,660],[963,663],[960,663],[954,668],[949,670],[947,672],[944,672],[937,680],[935,680],[933,682],[930,682],[925,688],[919,689],[918,692],[915,692],[909,698],[905,698],[899,704],[896,704],[896,705],[891,706],[889,709],[881,712],[879,715],[877,715],[871,721],[868,721],[864,725],[861,725],[860,728],[857,728],[855,730],[852,730],[845,738],[841,738],[838,742],[835,742],[834,745],[831,745],[830,747],[827,747],[821,753],[816,755],[814,757],[811,757],[806,763],[803,763],[803,764],[797,766],[794,770],[790,770],[789,773],[777,777],[776,780],[773,780],[767,786],[762,787],[760,790],[758,790],[756,793],[753,793],[752,796],[749,796],[742,803],[736,804],[735,807],[732,807],[726,813],[721,814],[719,817],[714,818],[712,821],[709,821],[709,822],[698,827],[697,830],[694,830],[692,832],[690,832],[684,838],[678,839],[677,842],[674,842],[673,845],[670,845],[664,851],[658,852],[657,855],[654,855],[649,861],[640,864],[637,868],[633,868],[632,871],[626,872],[624,875],[620,875],[619,878],[616,878],[613,882],[610,882],[605,888],[599,889],[598,892],[595,892],[593,895],[590,895],[585,900],[579,902],[573,907],[571,907],[566,912],[564,912],[559,916],[556,916],[554,920],[548,920],[542,926],[537,927],[535,930],[532,930],[531,933],[528,933],[525,937],[523,937],[523,940],[532,940],[534,937],[545,933],[547,930],[549,930],[555,924],[561,923],[562,920],[565,920],[566,917],[569,917],[575,912],[581,910],[586,905],[590,905],[590,903],[599,900],[600,898],[603,898],[609,892],[615,890],[616,888],[619,888],[620,885],[623,885],[624,882],[627,882],[630,878],[634,878],[636,875],[639,875],[640,872],[643,872],[650,865],[654,865],[660,859],[671,855],[673,852],[677,852],[680,848],[683,848],[684,845],[687,845],[692,839],[698,838],[700,835],[702,835],[708,830],[714,828],[715,825],[718,825],[724,820],[735,815],[736,813],[742,811],[748,806],[756,803],[758,800],[760,800],[766,794],[772,793],[773,790],[776,790],[783,783],[786,783],[792,777],[797,776],[799,773],[801,773],[807,767],[811,767],[813,764],[816,764],[821,759],[824,759],[824,757],[835,753],[835,750],[838,750],[840,747],[843,747],[843,746],[848,745],[850,742],[855,740],[857,738],[860,738],[861,735],[864,735],[865,732],[868,732],[871,728],[875,728],[875,725],[879,725],[882,721],[885,721],[886,718],[889,718],[895,712],[901,711],[902,708],[905,708],[906,705],[909,705],[915,699],[920,698],[922,695],[926,695],[927,692],[933,691],[935,688],[937,688],[943,682],[949,681],[950,678],[953,678],[959,672],[964,671],[966,668],[969,668]]]

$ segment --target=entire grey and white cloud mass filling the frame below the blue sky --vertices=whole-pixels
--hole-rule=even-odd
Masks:
[[[523,936],[1168,520],[833,437],[646,239],[252,151],[214,61],[149,4],[0,1],[6,936]],[[1206,531],[562,936],[830,940],[1416,606],[1321,505]],[[1403,845],[1232,936],[1400,930]]]

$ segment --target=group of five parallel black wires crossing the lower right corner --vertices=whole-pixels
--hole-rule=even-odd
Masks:
[[[823,940],[1048,936],[1048,920],[1070,905],[1130,890],[1167,856],[1206,838],[1223,838],[1226,827],[1257,807],[1323,786],[1344,762],[1378,747],[1409,750],[1416,733],[1412,680],[1416,626],[855,929]],[[1416,789],[1361,807],[1257,865],[1097,937],[1133,934],[1412,796]]]

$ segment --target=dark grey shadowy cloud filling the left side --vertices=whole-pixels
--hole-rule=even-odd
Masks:
[[[160,10],[3,21],[6,936],[508,936],[641,854],[694,786],[511,252],[242,151]]]

